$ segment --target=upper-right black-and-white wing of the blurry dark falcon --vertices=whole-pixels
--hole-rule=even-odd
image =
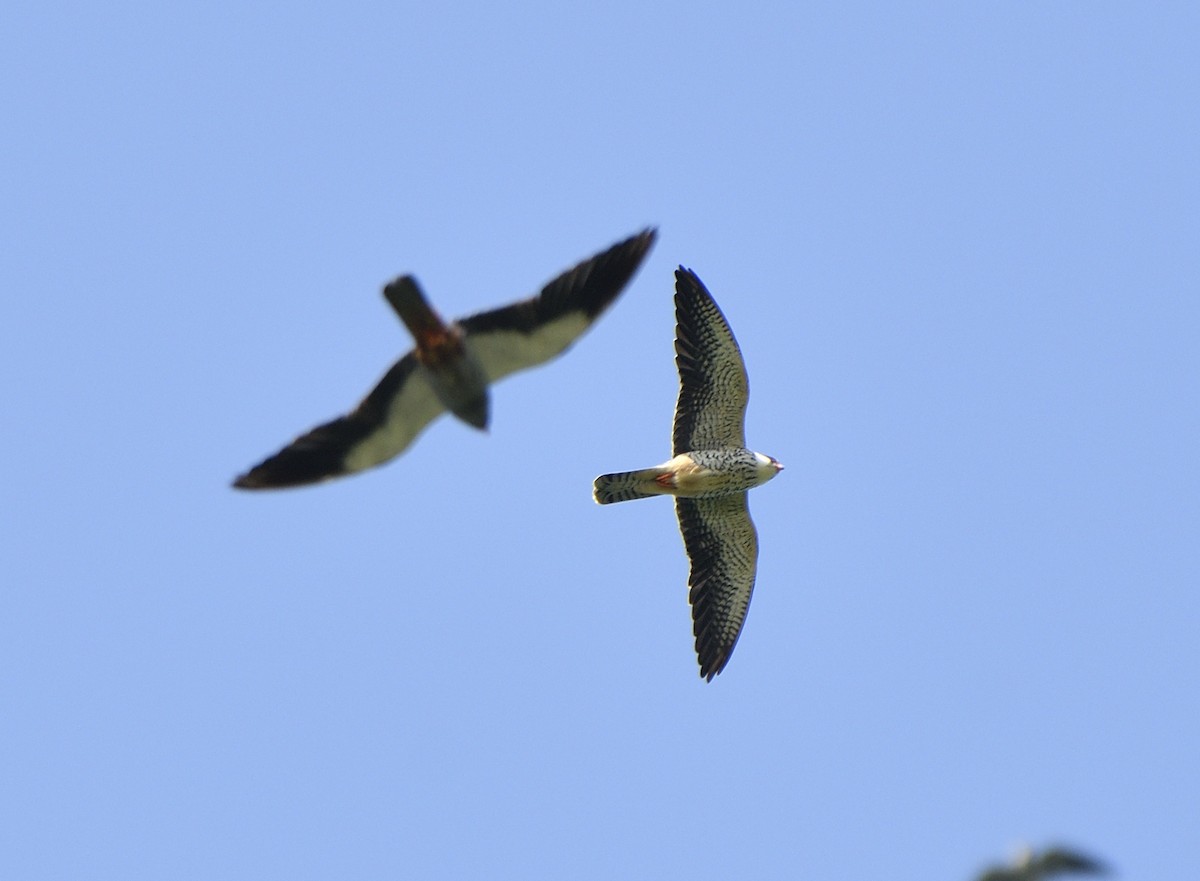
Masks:
[[[458,322],[467,347],[494,383],[562,353],[617,299],[654,245],[646,229],[563,272],[528,300]]]

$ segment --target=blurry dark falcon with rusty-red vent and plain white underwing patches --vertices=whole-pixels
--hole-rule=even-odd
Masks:
[[[233,485],[304,486],[382,465],[444,410],[486,428],[488,385],[575,342],[629,283],[655,235],[646,229],[563,272],[536,296],[457,322],[442,320],[413,276],[396,278],[383,293],[416,347],[354,410],[301,434]]]

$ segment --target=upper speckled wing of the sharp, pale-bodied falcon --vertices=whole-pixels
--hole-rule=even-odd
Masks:
[[[676,402],[673,454],[746,445],[750,383],[733,331],[703,282],[676,271]]]

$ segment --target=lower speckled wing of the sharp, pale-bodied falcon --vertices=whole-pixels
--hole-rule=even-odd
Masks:
[[[712,682],[733,653],[758,565],[758,533],[746,493],[676,498],[679,532],[688,550],[688,601],[700,675]]]

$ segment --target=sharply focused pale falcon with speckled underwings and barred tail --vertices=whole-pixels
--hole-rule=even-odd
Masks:
[[[600,504],[674,496],[691,571],[688,601],[700,675],[713,681],[730,660],[750,606],[758,534],[746,491],[784,469],[746,448],[750,398],[745,362],[733,331],[703,282],[676,271],[676,402],[672,459],[642,471],[601,474]]]

